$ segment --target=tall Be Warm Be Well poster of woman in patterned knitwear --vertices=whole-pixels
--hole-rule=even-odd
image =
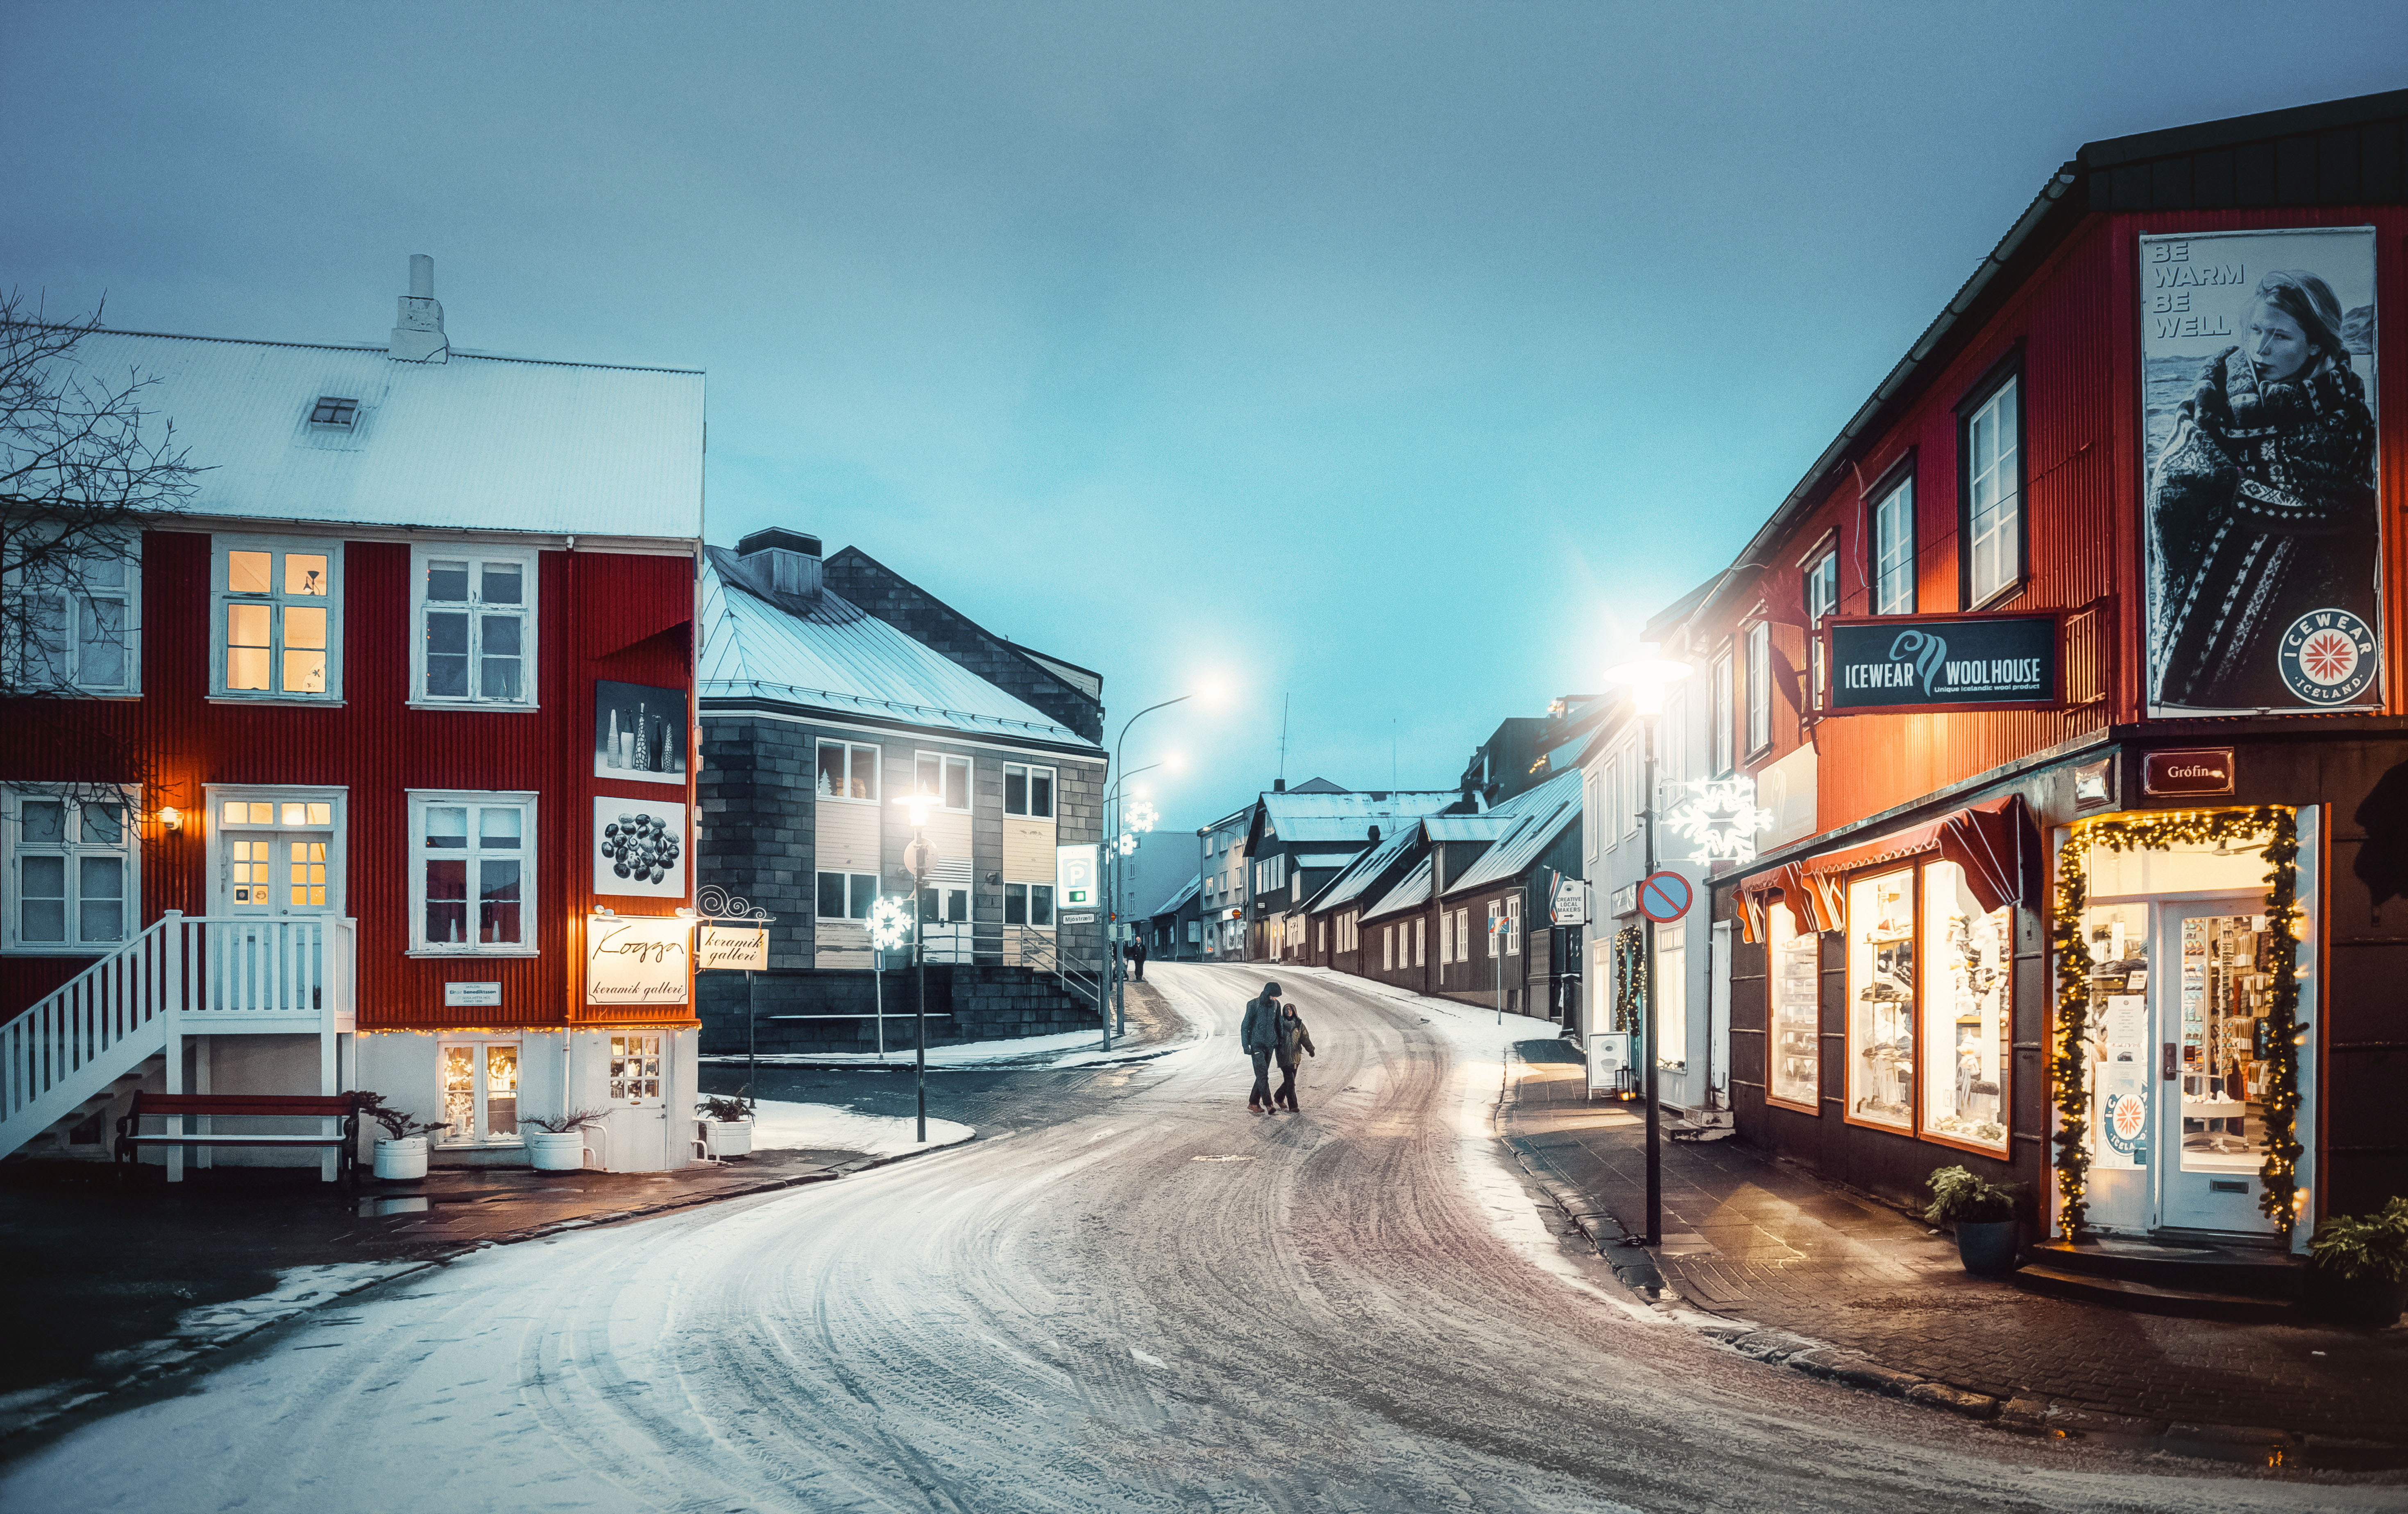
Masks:
[[[2382,705],[2374,229],[2141,238],[2150,715]]]

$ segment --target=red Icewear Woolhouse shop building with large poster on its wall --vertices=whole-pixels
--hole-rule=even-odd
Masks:
[[[1746,1139],[2015,1179],[2035,1235],[2300,1247],[2408,1191],[2403,128],[2083,147],[1659,626],[1734,669],[1714,751],[1811,794],[1717,869]]]

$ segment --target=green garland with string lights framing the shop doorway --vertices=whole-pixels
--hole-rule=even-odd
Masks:
[[[2300,823],[2288,809],[2177,809],[2146,818],[2076,821],[2056,850],[2056,1045],[2049,1078],[2056,1086],[2056,1199],[2066,1235],[2076,1237],[2090,1213],[2090,1088],[2085,1081],[2090,1035],[2090,941],[2083,903],[2090,895],[2088,847],[2112,852],[2160,850],[2268,835],[2266,842],[2266,970],[2273,1006],[2266,1040],[2273,1064],[2266,1076],[2266,1165],[2259,1167],[2259,1208],[2290,1228],[2300,1218]]]

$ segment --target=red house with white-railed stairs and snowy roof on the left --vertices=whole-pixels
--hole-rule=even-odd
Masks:
[[[207,472],[12,700],[0,1153],[99,1155],[147,1086],[691,1155],[703,375],[450,349],[431,279],[390,347],[75,351]]]

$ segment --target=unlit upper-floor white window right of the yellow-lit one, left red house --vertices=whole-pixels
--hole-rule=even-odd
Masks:
[[[409,568],[414,698],[535,705],[535,554],[412,546]]]

